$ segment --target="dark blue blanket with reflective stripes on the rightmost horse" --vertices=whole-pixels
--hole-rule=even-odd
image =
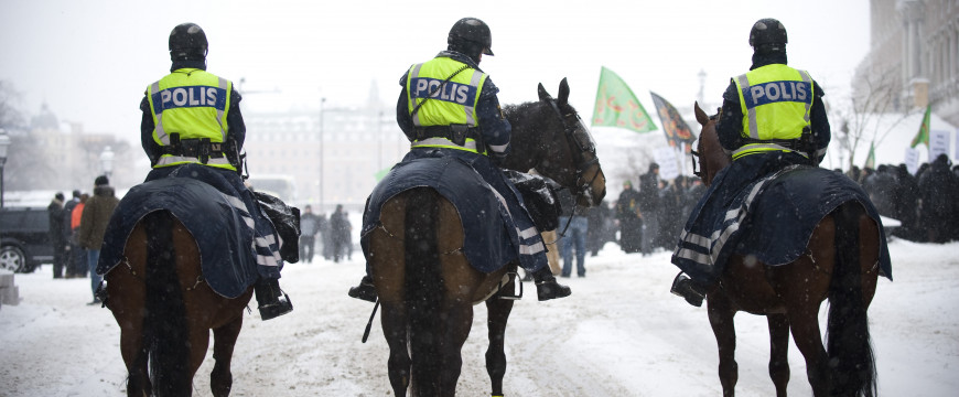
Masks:
[[[728,174],[721,172],[713,183]],[[892,280],[882,221],[866,193],[848,176],[818,167],[789,165],[739,192],[711,187],[718,189],[710,189],[696,206],[672,254],[672,262],[690,277],[712,282],[733,254],[754,256],[769,266],[789,264],[806,251],[823,217],[856,201],[880,226],[880,273]]]

